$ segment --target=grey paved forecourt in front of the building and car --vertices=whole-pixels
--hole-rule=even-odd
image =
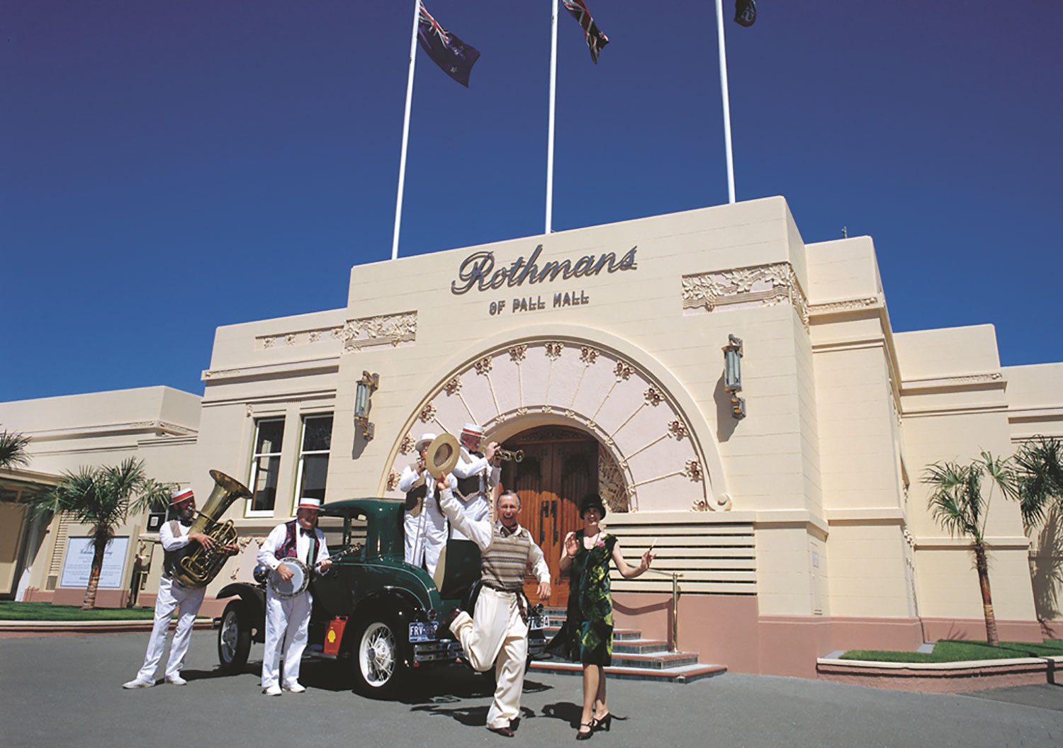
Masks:
[[[490,685],[458,667],[437,670],[399,702],[360,698],[335,664],[308,661],[302,695],[260,694],[253,661],[215,672],[215,633],[192,635],[187,686],[123,691],[147,636],[99,634],[0,640],[0,744],[77,745],[500,745],[484,729]],[[252,658],[261,647],[252,649]],[[610,706],[625,721],[595,745],[653,746],[1059,746],[1063,687],[978,696],[909,694],[792,678],[725,675],[681,685],[615,681]],[[578,718],[579,680],[529,674],[516,738],[568,744]],[[503,744],[504,745],[504,744]]]

